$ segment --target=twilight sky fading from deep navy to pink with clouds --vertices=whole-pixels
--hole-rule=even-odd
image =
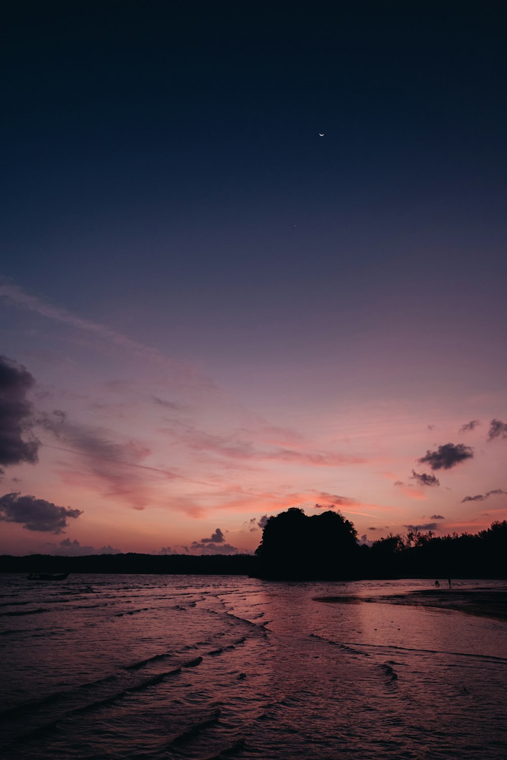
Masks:
[[[507,518],[506,15],[8,9],[0,553]]]

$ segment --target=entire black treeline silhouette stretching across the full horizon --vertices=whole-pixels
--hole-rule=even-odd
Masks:
[[[308,517],[290,508],[268,519],[255,556],[102,554],[0,556],[0,572],[252,575],[272,580],[507,578],[507,520],[477,534],[436,536],[408,530],[357,542],[338,511]]]

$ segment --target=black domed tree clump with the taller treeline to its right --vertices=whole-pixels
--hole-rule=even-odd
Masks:
[[[307,517],[295,507],[269,518],[256,551],[260,577],[301,580],[505,578],[506,553],[506,520],[474,535],[408,530],[368,546],[338,511]]]

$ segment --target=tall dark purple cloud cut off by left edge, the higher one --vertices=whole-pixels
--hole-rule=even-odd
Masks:
[[[37,461],[40,442],[30,437],[33,407],[27,399],[34,384],[27,369],[0,356],[0,474],[2,465]]]

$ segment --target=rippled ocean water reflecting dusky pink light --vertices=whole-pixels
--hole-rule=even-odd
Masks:
[[[314,600],[431,584],[2,575],[0,756],[505,760],[505,622]]]

